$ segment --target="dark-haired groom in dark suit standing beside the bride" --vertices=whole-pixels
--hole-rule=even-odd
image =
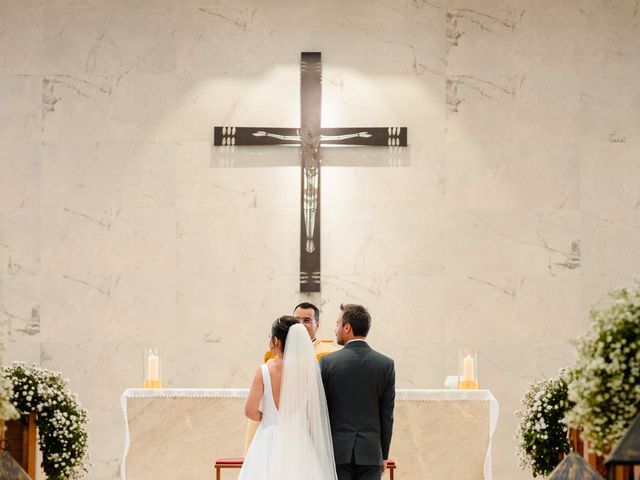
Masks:
[[[342,350],[320,360],[339,480],[379,480],[387,467],[393,406],[393,360],[366,342],[371,316],[340,305],[336,338]]]

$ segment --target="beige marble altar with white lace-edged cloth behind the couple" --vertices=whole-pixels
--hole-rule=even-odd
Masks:
[[[122,480],[213,478],[216,458],[243,454],[247,392],[126,390]],[[390,452],[396,478],[490,480],[497,420],[498,402],[488,390],[397,390]],[[236,479],[237,470],[223,478]]]

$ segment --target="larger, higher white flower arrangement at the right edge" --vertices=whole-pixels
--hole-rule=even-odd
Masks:
[[[609,306],[591,311],[569,381],[575,407],[567,419],[600,454],[622,436],[640,403],[640,282],[612,296]]]

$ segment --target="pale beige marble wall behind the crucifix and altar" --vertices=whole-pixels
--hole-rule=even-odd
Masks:
[[[405,125],[410,143],[325,151],[321,331],[367,305],[403,388],[439,388],[477,346],[502,409],[494,478],[529,478],[524,389],[572,362],[589,306],[640,270],[639,12],[0,0],[5,362],[70,378],[95,480],[118,476],[145,345],[169,387],[248,385],[271,319],[307,298],[298,154],[213,150],[212,127],[296,126],[300,52],[321,51],[324,125]]]

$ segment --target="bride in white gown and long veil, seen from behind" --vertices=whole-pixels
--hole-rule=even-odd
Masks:
[[[327,401],[307,329],[280,317],[269,348],[276,358],[258,367],[245,406],[261,424],[238,480],[336,480]]]

